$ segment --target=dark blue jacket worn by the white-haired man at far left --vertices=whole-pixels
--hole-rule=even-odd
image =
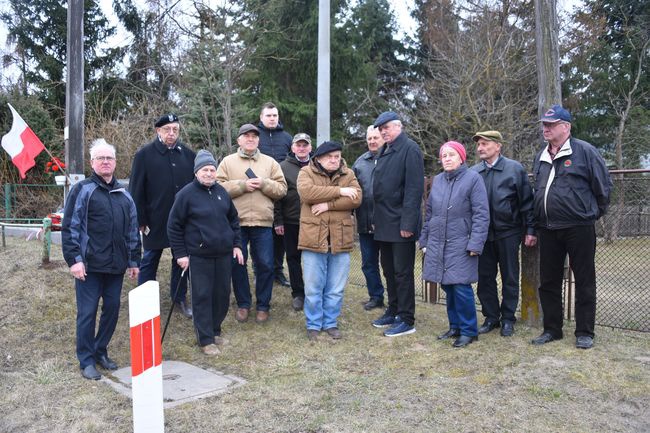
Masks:
[[[115,178],[93,173],[70,190],[61,226],[68,266],[83,262],[88,272],[123,274],[140,266],[140,233],[131,195]]]

